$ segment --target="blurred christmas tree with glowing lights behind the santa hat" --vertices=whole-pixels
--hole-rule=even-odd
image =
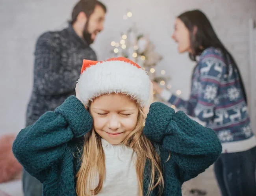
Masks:
[[[131,17],[132,13],[128,11],[123,19],[127,20]],[[121,33],[118,41],[112,41],[111,46],[112,56],[129,58],[147,71],[151,80],[171,89],[171,84],[168,84],[170,78],[165,76],[165,70],[161,70],[161,76],[156,76],[155,67],[163,57],[155,51],[155,45],[149,37],[139,33],[135,23],[125,33]]]

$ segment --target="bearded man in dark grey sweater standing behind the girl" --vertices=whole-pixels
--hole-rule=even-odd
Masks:
[[[97,0],[80,0],[69,27],[39,36],[35,47],[34,83],[28,103],[26,126],[46,111],[53,111],[75,94],[83,59],[96,60],[90,44],[103,30],[106,6]],[[41,196],[42,184],[24,170],[25,196]]]

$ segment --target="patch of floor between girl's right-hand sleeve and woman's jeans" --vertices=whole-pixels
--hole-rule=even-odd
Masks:
[[[206,196],[221,196],[213,174],[213,166],[199,174],[196,178],[185,182],[182,186],[182,196],[197,196],[197,194],[190,194],[190,189],[206,191]]]

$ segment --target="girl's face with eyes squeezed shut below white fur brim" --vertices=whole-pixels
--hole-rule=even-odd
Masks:
[[[108,143],[121,143],[137,124],[139,109],[124,94],[105,94],[91,102],[90,113],[95,131]]]

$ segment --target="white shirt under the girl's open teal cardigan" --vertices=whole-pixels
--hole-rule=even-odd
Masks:
[[[111,145],[102,139],[105,153],[106,178],[98,196],[137,196],[139,192],[135,162],[136,154],[125,145]],[[133,153],[134,152],[134,153]],[[95,176],[95,188],[98,175]]]

